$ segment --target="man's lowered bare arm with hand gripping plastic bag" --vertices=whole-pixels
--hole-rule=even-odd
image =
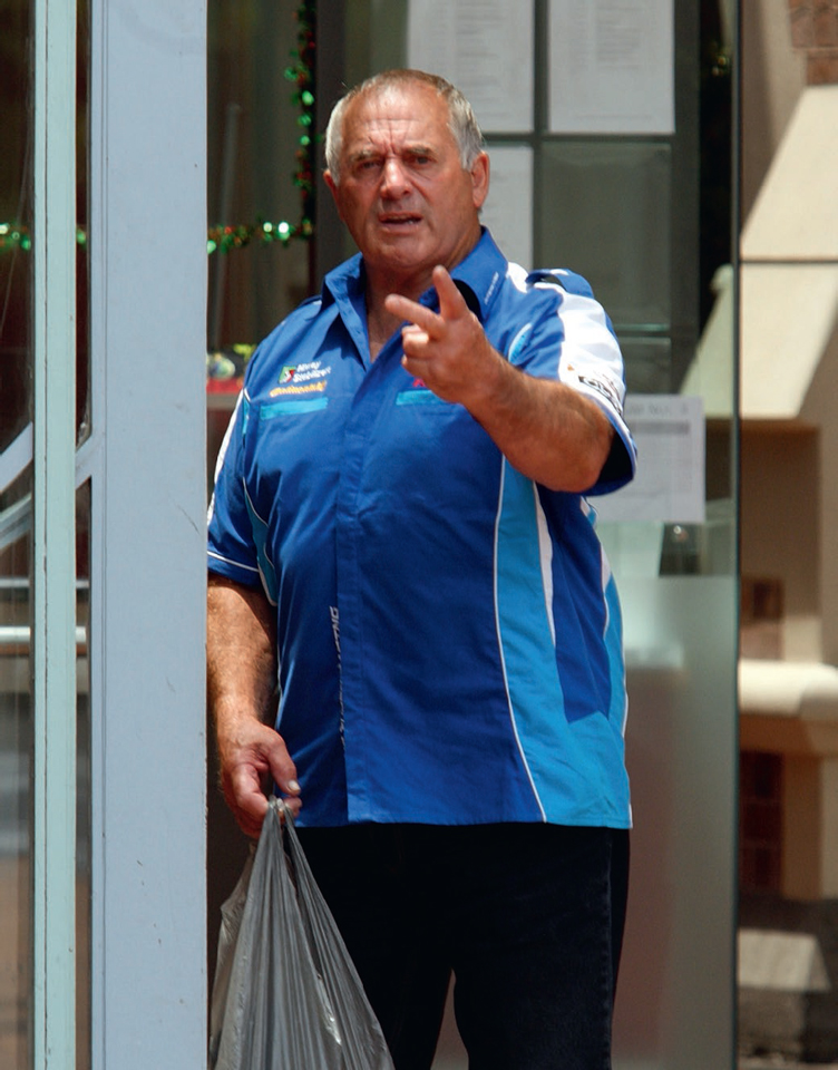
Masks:
[[[241,828],[257,836],[274,780],[294,813],[296,769],[282,737],[264,723],[276,679],[273,610],[261,591],[210,574],[207,701],[215,724],[221,786]]]

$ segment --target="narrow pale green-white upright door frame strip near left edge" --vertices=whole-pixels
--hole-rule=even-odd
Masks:
[[[76,1053],[76,4],[36,0],[32,1062]]]

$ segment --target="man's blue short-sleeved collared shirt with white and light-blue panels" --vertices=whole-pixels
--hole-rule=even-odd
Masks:
[[[488,232],[452,272],[491,344],[616,430],[623,369],[587,283]],[[422,301],[436,307],[436,293]],[[300,825],[630,825],[621,617],[587,496],[516,471],[462,406],[370,361],[360,256],[254,353],[222,448],[210,568],[276,607],[276,728]]]

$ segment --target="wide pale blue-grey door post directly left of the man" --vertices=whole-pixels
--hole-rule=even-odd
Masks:
[[[198,1067],[205,0],[90,18],[92,1067]]]

